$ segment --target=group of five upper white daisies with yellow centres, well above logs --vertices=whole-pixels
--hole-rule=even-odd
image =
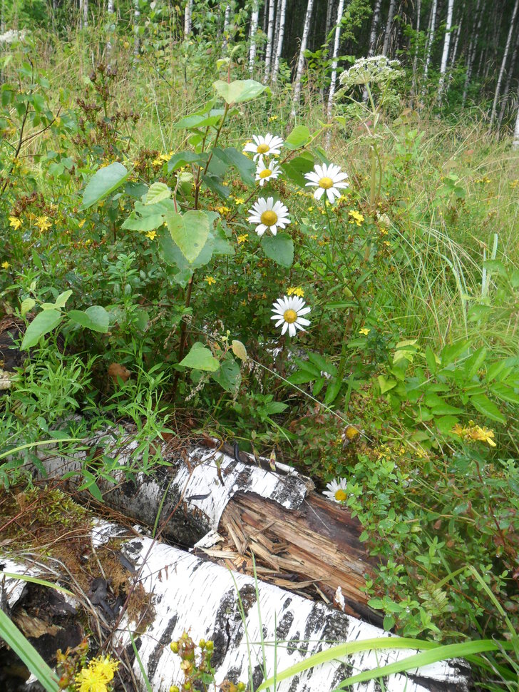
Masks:
[[[244,153],[252,153],[256,161],[256,180],[262,188],[269,180],[276,180],[281,173],[281,166],[277,163],[277,157],[281,153],[283,140],[281,137],[267,133],[265,136],[254,135],[252,142],[245,145]],[[341,189],[347,188],[348,175],[342,173],[339,166],[333,163],[329,165],[317,164],[310,173],[305,173],[308,180],[307,187],[316,188],[314,198],[320,200],[324,193],[330,204],[341,196]],[[260,197],[249,210],[249,223],[256,224],[256,233],[260,237],[268,230],[272,235],[277,234],[277,229],[284,229],[289,225],[289,210],[279,200],[274,202],[274,197]],[[307,315],[310,308],[307,307],[302,297],[297,295],[284,295],[278,298],[272,306],[272,320],[276,320],[276,327],[282,327],[282,335],[288,331],[289,336],[294,337],[297,330],[304,331],[310,322],[303,315]]]

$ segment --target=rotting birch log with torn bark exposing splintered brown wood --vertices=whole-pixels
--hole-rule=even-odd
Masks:
[[[359,541],[361,526],[346,509],[312,492],[309,478],[284,464],[274,471],[266,459],[258,461],[208,441],[216,448],[190,444],[172,449],[163,444],[168,465],[136,474],[132,482],[123,471],[135,467],[138,442],[131,434],[104,432],[86,444],[90,451],[75,458],[49,454],[42,459],[48,476],[78,472],[92,454],[118,457],[117,484],[98,481],[106,506],[141,524],[163,526],[161,535],[175,544],[196,546],[232,569],[252,574],[254,553],[263,579],[292,589],[313,586],[320,597],[335,599],[347,613],[380,624],[361,591],[371,569]],[[76,476],[71,483],[77,487],[78,482]]]

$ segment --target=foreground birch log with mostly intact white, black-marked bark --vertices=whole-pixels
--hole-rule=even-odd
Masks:
[[[217,685],[226,680],[248,682],[251,673],[255,689],[265,675],[276,671],[279,674],[334,643],[373,638],[391,641],[384,631],[329,606],[244,574],[232,574],[222,566],[147,536],[128,536],[128,529],[120,525],[96,522],[90,541],[97,549],[115,541],[117,550],[134,565],[133,572],[129,571],[134,583],[142,585],[150,594],[154,611],[151,622],[144,632],[142,627],[137,628],[138,632],[133,631],[133,636],[153,692],[168,692],[172,684],[181,686],[180,658],[170,651],[169,644],[184,631],[195,642],[200,638],[214,642],[212,665]],[[90,560],[95,560],[95,550],[87,554]],[[27,561],[24,565],[5,559],[2,562],[9,572],[42,574],[41,562],[36,568],[31,568]],[[68,584],[66,574],[63,581]],[[23,582],[4,578],[0,582],[0,601],[15,613],[23,591]],[[106,613],[102,615],[104,618]],[[135,630],[135,625],[130,624],[126,615],[115,619],[111,634],[113,650],[130,650],[129,629]],[[348,676],[401,661],[413,653],[391,648],[351,653],[278,682],[277,691],[331,692]],[[145,681],[135,657],[131,666],[137,691],[145,692]],[[463,661],[442,661],[386,676],[384,689],[386,692],[464,692],[468,691],[468,673]],[[375,692],[380,688],[379,681],[370,681],[349,689]]]

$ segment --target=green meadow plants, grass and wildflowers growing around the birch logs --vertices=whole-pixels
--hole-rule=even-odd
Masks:
[[[63,3],[4,1],[26,34],[0,44],[0,297],[28,326],[0,481],[123,420],[147,472],[171,429],[274,452],[359,517],[386,629],[507,638],[478,684],[514,689],[519,158],[508,101],[500,138],[485,117],[505,41],[480,81],[455,61],[418,80],[432,46],[405,13],[407,54],[355,61],[377,7],[351,3],[336,86],[332,39],[307,49],[294,109],[287,58],[270,86],[251,68],[248,5],[230,33],[195,3],[184,36],[166,3],[87,3],[71,28]],[[111,470],[89,460],[83,487],[101,499]],[[84,656],[79,688],[108,688],[115,663]]]

